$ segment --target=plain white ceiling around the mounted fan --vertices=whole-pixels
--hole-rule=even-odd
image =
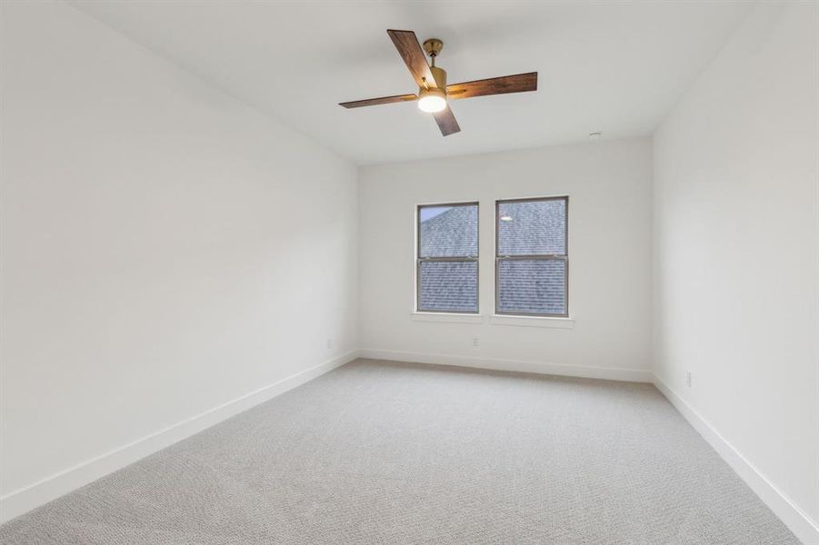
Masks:
[[[356,163],[651,134],[748,12],[745,2],[275,2],[71,4]],[[386,35],[438,37],[449,82],[537,71],[538,91],[453,101],[442,137]]]

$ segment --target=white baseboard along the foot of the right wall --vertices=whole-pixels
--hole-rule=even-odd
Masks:
[[[705,441],[714,448],[714,451],[723,458],[731,469],[754,490],[760,500],[763,500],[774,514],[779,517],[784,524],[794,532],[797,538],[806,545],[819,544],[819,524],[801,510],[792,500],[784,495],[773,482],[754,467],[754,464],[745,459],[740,451],[725,440],[708,421],[706,421],[694,408],[691,407],[682,397],[671,389],[660,377],[654,375],[654,386],[662,391],[663,395],[671,401],[674,408],[680,412],[692,426],[703,436]]]

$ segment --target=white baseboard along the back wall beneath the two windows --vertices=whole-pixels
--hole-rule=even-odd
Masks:
[[[444,354],[427,354],[418,352],[397,352],[365,348],[359,351],[362,358],[388,360],[393,362],[434,363],[436,365],[455,365],[474,369],[493,371],[534,372],[538,374],[561,375],[566,377],[584,377],[587,379],[605,379],[608,381],[651,382],[652,373],[642,369],[622,369],[616,367],[588,367],[584,365],[565,365],[561,363],[524,362],[521,360],[497,360],[493,358],[476,358],[471,356],[450,356]]]

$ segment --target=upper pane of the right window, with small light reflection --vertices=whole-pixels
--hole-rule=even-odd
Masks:
[[[498,255],[566,253],[566,202],[498,203]]]

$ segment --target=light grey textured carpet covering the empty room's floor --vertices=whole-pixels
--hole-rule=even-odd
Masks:
[[[10,520],[0,542],[799,543],[654,386],[367,360]]]

